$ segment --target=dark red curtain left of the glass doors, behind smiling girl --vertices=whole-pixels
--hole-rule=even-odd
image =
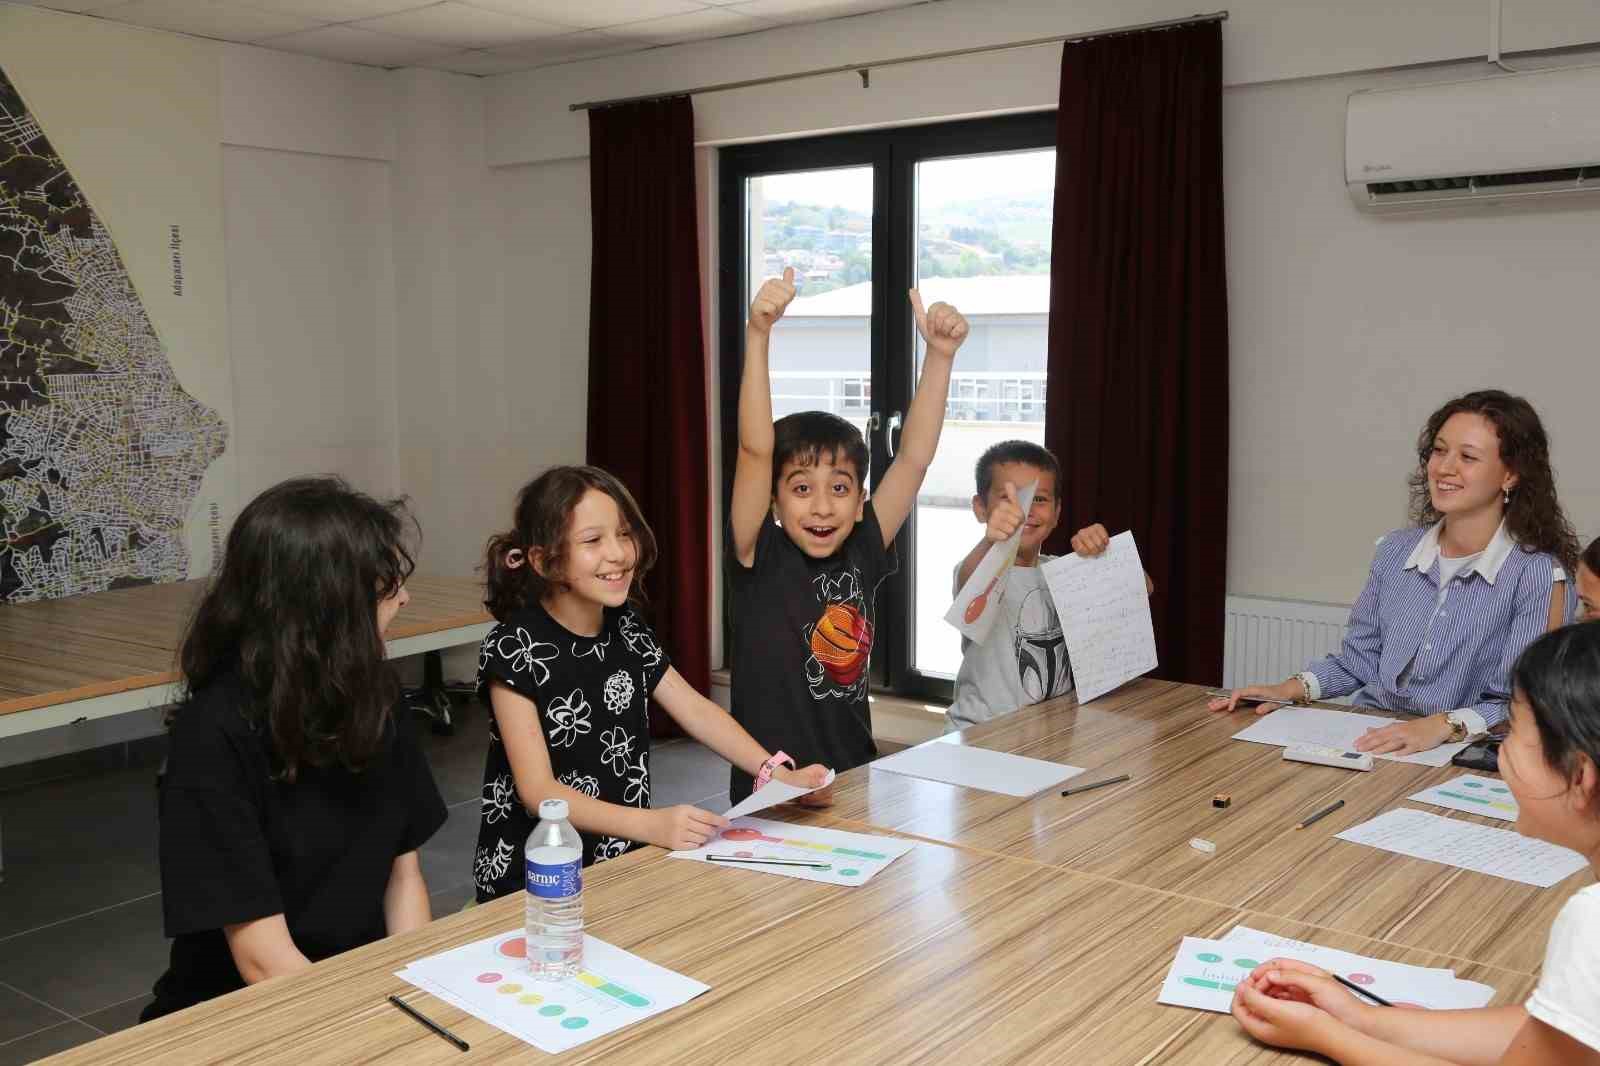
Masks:
[[[650,621],[704,693],[712,536],[694,109],[678,96],[590,110],[589,147],[589,463],[622,479],[654,530]]]

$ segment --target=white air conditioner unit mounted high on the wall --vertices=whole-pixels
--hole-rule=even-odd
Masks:
[[[1600,192],[1600,67],[1352,93],[1344,178],[1370,211]]]

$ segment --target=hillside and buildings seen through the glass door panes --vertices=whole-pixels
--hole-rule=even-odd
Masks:
[[[978,456],[1000,440],[1043,443],[1054,176],[1050,149],[917,165],[917,287],[926,304],[954,304],[971,323],[917,501],[914,659],[926,674],[954,677],[960,661],[942,615],[955,563],[982,535],[971,509]],[[784,267],[800,290],[773,338],[774,418],[826,410],[866,431],[875,410],[872,168],[750,178],[747,203],[749,295]],[[914,359],[920,373],[920,344]]]

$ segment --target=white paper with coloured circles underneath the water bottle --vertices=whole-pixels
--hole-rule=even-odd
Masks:
[[[584,968],[570,981],[534,981],[525,956],[523,935],[510,932],[418,959],[395,976],[550,1055],[710,988],[587,935]]]

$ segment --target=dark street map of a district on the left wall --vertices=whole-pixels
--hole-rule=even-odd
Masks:
[[[0,70],[0,602],[181,581],[227,427]]]

